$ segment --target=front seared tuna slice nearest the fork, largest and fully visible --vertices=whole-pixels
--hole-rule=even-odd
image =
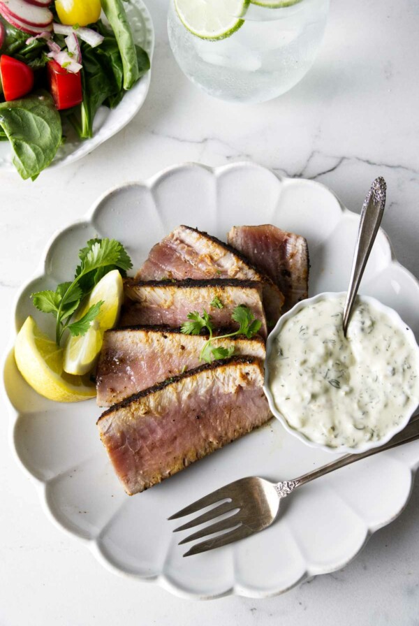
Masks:
[[[126,493],[161,482],[265,423],[271,414],[262,385],[262,363],[233,356],[105,411],[98,429]]]

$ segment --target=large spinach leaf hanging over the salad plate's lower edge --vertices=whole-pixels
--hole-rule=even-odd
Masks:
[[[13,150],[13,164],[22,178],[36,177],[50,165],[61,144],[61,117],[48,92],[0,104],[0,126]]]

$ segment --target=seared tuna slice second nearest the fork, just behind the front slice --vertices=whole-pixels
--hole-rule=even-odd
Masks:
[[[178,328],[143,326],[107,330],[96,369],[96,401],[110,407],[176,374],[193,370],[208,335],[183,335]],[[212,347],[233,348],[235,355],[265,361],[262,337],[213,340]]]

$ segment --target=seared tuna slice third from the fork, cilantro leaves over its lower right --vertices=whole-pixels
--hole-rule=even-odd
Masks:
[[[207,311],[215,327],[231,326],[233,310],[238,305],[249,307],[262,326],[259,334],[266,337],[266,319],[262,304],[262,283],[250,280],[180,280],[140,281],[126,280],[125,293],[129,299],[122,312],[119,326],[154,326],[163,324],[179,328],[188,313]],[[211,303],[218,300],[222,308]],[[217,301],[217,300],[216,300]]]

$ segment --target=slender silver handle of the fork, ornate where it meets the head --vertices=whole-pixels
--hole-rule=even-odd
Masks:
[[[383,452],[385,450],[390,450],[395,448],[396,446],[401,446],[402,444],[406,444],[409,442],[418,439],[419,437],[419,413],[411,418],[409,424],[402,430],[402,432],[398,432],[395,437],[392,437],[389,442],[383,444],[383,446],[379,446],[378,448],[373,448],[371,450],[367,450],[365,452],[360,452],[359,454],[346,454],[345,456],[341,456],[332,463],[328,463],[327,465],[323,465],[322,467],[318,467],[318,469],[314,469],[313,472],[308,472],[307,474],[303,474],[292,481],[283,481],[281,483],[277,483],[274,485],[275,490],[279,497],[286,497],[290,493],[293,492],[297,487],[305,485],[305,483],[309,483],[310,481],[314,481],[316,478],[320,478],[320,476],[324,476],[325,474],[329,474],[330,472],[334,472],[335,469],[340,469],[341,467],[345,467],[345,465],[351,465],[351,463],[355,463],[355,461],[360,461],[362,458],[367,458],[369,456],[373,456],[373,454],[378,454],[378,452]]]

